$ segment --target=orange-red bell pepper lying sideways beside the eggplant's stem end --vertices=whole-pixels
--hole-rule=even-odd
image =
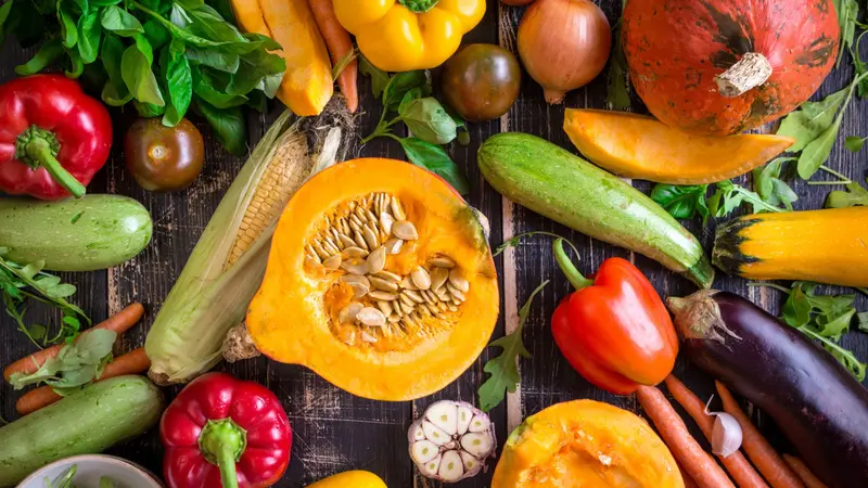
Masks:
[[[610,258],[586,279],[560,239],[554,256],[576,287],[551,318],[554,342],[573,369],[616,395],[662,382],[675,365],[678,336],[644,274],[625,259]]]

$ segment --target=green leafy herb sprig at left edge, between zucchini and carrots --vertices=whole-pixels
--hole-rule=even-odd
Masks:
[[[37,347],[61,341],[71,342],[75,338],[81,329],[81,321],[90,323],[90,319],[80,308],[66,300],[75,294],[75,286],[42,271],[43,262],[22,266],[4,259],[7,253],[7,248],[0,247],[0,293],[3,296],[7,313],[15,320],[18,331]],[[61,311],[61,325],[54,337],[49,338],[47,326],[27,324],[25,321],[27,309],[33,301],[50,305]]]

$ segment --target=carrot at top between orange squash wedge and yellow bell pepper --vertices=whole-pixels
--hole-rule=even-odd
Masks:
[[[329,47],[332,63],[337,66],[346,56],[353,53],[353,40],[349,33],[337,22],[334,13],[333,0],[308,0],[310,10],[314,11],[314,18],[317,21],[319,31]],[[349,112],[355,114],[359,107],[359,90],[357,87],[359,63],[356,60],[349,62],[344,70],[337,76],[337,86],[346,98],[346,106]]]

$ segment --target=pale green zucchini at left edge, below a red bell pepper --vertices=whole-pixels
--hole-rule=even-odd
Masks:
[[[54,271],[94,271],[131,259],[151,241],[151,215],[119,195],[39,202],[0,198],[0,247],[18,264]]]

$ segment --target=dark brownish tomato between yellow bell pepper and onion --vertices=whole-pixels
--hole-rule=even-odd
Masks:
[[[494,44],[461,48],[443,72],[446,104],[469,121],[500,117],[515,103],[521,88],[519,60]]]

